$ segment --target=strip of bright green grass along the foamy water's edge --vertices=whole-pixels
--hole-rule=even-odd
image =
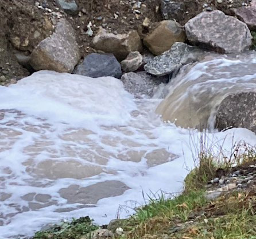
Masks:
[[[203,190],[181,194],[172,200],[166,200],[163,195],[158,200],[150,198],[148,205],[139,209],[122,225],[128,232],[126,238],[142,238],[163,228],[168,231],[174,222],[187,221],[192,210],[206,203]]]

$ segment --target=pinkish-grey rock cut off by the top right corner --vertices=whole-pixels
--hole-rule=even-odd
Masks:
[[[251,31],[256,30],[256,0],[251,1],[250,6],[232,9],[236,17],[245,22]]]

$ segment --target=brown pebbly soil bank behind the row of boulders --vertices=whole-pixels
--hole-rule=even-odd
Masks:
[[[79,13],[68,15],[57,6],[55,0],[0,0],[0,85],[10,79],[29,75],[27,69],[18,64],[16,53],[29,55],[42,39],[52,34],[58,17],[65,17],[76,31],[81,56],[95,51],[92,37],[86,34],[87,25],[92,23],[94,35],[99,27],[115,34],[137,30],[141,38],[150,31],[153,23],[162,20],[159,0],[76,0]],[[229,14],[229,2],[216,3],[215,0],[184,0],[185,9],[181,18],[188,19],[203,11],[205,3],[212,9],[220,9]],[[232,7],[242,6],[243,0],[233,0]],[[248,3],[249,4],[249,3]],[[38,5],[40,7],[38,7]],[[57,14],[57,15],[56,15]],[[58,15],[59,14],[59,15]],[[149,18],[149,28],[142,26]]]

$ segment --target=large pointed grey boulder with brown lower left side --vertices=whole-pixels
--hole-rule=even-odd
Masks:
[[[30,65],[34,70],[55,70],[71,73],[80,59],[75,31],[64,18],[55,33],[42,40],[32,51]]]

